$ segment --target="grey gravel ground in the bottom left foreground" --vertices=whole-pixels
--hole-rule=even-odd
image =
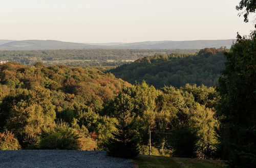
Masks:
[[[133,167],[129,160],[105,151],[19,150],[1,151],[0,167]]]

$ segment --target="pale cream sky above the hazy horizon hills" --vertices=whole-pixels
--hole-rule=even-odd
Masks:
[[[239,0],[8,0],[0,39],[80,43],[234,39],[252,22]]]

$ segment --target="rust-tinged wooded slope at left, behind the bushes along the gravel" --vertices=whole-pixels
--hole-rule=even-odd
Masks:
[[[130,86],[99,70],[63,65],[0,65],[0,130],[12,130],[24,149],[33,148],[42,134],[62,120],[84,128],[102,144],[113,130],[112,120],[97,111],[122,86]],[[56,118],[57,117],[57,118]]]

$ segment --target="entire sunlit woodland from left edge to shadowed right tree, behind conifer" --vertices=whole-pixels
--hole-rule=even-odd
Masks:
[[[41,63],[8,62],[0,70],[1,149],[105,149],[129,114],[141,153],[148,151],[150,129],[155,155],[216,157],[214,88],[157,90],[99,70]],[[172,138],[158,132],[173,132]],[[182,144],[184,133],[194,137],[189,146]]]

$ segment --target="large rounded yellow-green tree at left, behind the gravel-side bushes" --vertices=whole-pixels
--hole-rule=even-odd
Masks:
[[[54,126],[55,111],[51,103],[50,91],[42,88],[35,90],[16,90],[7,96],[1,105],[3,124],[17,132],[20,143],[34,143],[38,135]]]

